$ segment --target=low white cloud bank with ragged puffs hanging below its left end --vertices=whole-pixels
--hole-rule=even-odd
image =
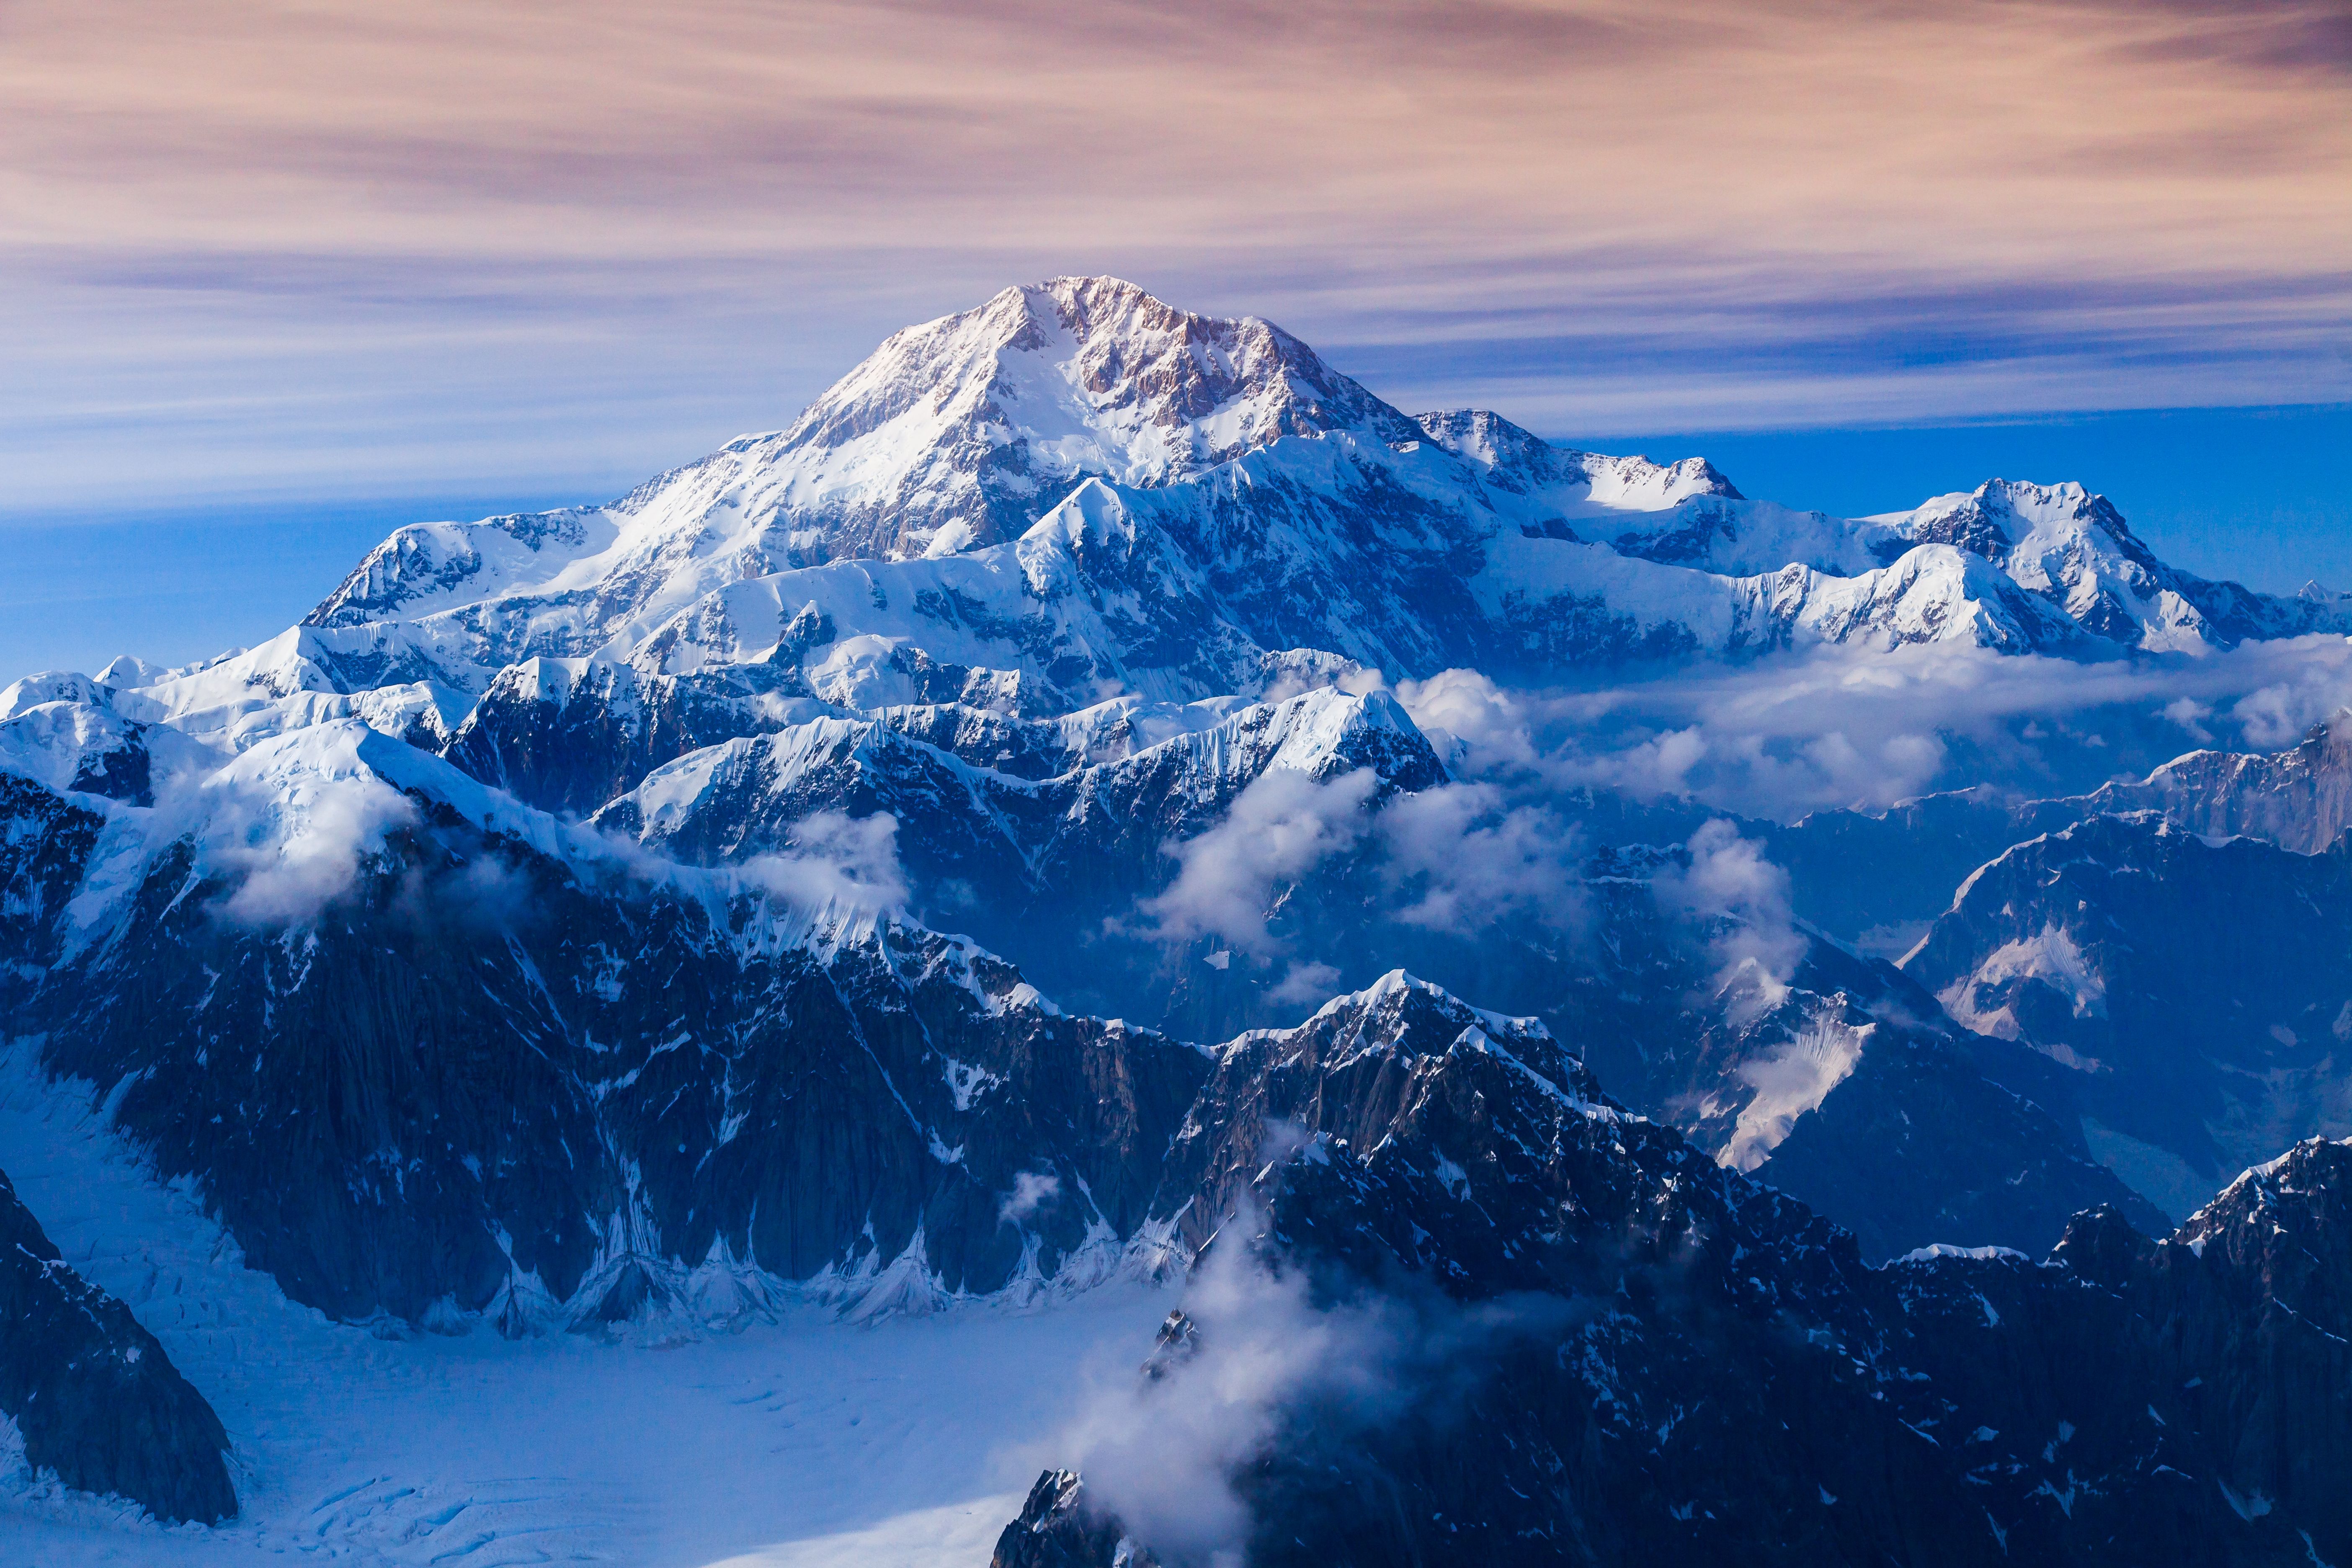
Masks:
[[[1449,783],[1397,792],[1371,769],[1268,771],[1207,832],[1164,846],[1176,875],[1131,929],[1207,938],[1211,966],[1270,983],[1268,1004],[1315,1004],[1348,978],[1357,936],[1395,950],[1416,931],[1508,933],[1569,954],[1595,931],[1595,853],[1642,844],[1609,879],[1646,882],[1653,931],[1736,1011],[1764,1009],[1809,938],[1788,872],[1738,818],[1973,785],[2077,795],[2197,748],[2277,750],[2352,705],[2352,642],[2107,663],[1816,649],[1592,689],[1446,670],[1395,693]]]

